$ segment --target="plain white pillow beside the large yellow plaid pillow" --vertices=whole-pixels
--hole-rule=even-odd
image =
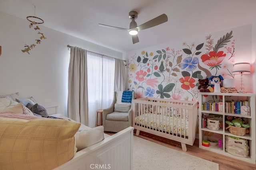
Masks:
[[[98,143],[104,139],[103,126],[77,131],[75,135],[77,151]]]

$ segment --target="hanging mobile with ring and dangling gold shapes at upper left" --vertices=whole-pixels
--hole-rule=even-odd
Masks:
[[[27,20],[30,21],[30,24],[29,24],[29,28],[32,28],[34,27],[34,30],[40,30],[40,27],[37,26],[36,24],[42,24],[44,23],[44,20],[42,20],[41,18],[38,18],[36,17],[36,6],[34,6],[34,16],[27,16]],[[39,34],[39,38],[36,39],[36,44],[40,44],[41,43],[41,40],[42,39],[46,39],[46,37],[44,36],[43,33],[39,32],[38,31],[38,34]],[[27,52],[28,54],[30,50],[32,50],[34,47],[36,47],[36,44],[31,44],[31,45],[24,45],[25,49],[22,49],[21,51],[23,53]]]

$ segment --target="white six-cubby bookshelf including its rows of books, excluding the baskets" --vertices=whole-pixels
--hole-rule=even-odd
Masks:
[[[206,97],[207,96],[207,97]],[[247,105],[250,107],[250,114],[241,114],[241,106]],[[216,117],[223,123],[218,130],[208,129],[204,124],[204,116]],[[249,133],[244,136],[238,136],[230,133],[225,129],[225,121],[227,116],[241,117],[250,125]],[[256,164],[256,126],[255,126],[255,94],[250,93],[222,93],[222,92],[200,92],[199,93],[199,148],[210,150],[219,154],[224,154],[232,158],[243,160]],[[210,134],[210,136],[209,136]],[[211,139],[214,135],[222,141],[222,148],[217,146],[205,147],[202,145],[202,140]],[[246,139],[249,145],[248,157],[240,157],[230,154],[226,151],[225,140],[226,136],[232,136],[240,139]],[[218,140],[216,139],[216,140]]]

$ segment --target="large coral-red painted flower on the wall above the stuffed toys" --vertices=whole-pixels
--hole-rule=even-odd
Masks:
[[[215,51],[211,51],[209,55],[206,55],[206,54],[202,55],[201,59],[202,59],[202,62],[207,66],[214,67],[220,64],[225,57],[226,57],[226,54],[223,54],[223,51],[219,51],[218,53],[216,53]]]

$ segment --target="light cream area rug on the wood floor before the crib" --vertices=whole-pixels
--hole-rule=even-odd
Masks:
[[[134,136],[133,170],[218,170],[219,165]]]

